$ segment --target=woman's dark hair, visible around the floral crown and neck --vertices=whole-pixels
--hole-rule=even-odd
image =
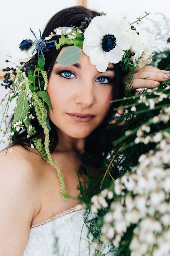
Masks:
[[[49,36],[51,32],[54,31],[57,27],[62,26],[76,26],[79,27],[81,22],[84,21],[85,17],[93,19],[95,16],[100,15],[99,12],[94,10],[90,10],[83,6],[73,6],[70,8],[63,9],[57,12],[47,23],[47,26],[44,29],[42,37]],[[55,37],[55,40],[58,40]],[[61,50],[62,48],[60,48]],[[45,55],[45,66],[44,70],[47,71],[48,79],[51,75],[52,68],[54,66],[55,60],[57,55],[59,54],[60,50],[56,50],[55,48],[51,48],[50,51],[44,53]],[[124,84],[123,84],[123,76],[125,73],[119,66],[119,64],[114,64],[115,68],[115,78],[114,78],[114,85],[113,85],[113,92],[112,92],[112,99],[122,98],[124,96]],[[106,117],[104,118],[103,122],[90,134],[86,137],[85,148],[83,155],[79,154],[81,162],[85,166],[95,166],[99,168],[103,163],[103,160],[106,158],[110,150],[112,149],[111,141],[109,139],[109,132],[105,129],[108,126],[108,121],[110,121],[116,112],[113,111],[113,108],[119,106],[119,103],[112,104],[110,110],[108,111]],[[50,131],[50,152],[54,151],[54,148],[59,142],[58,134],[55,130],[55,125],[49,120],[51,125]],[[44,132],[39,124],[37,118],[31,121],[32,125],[36,129],[36,134],[26,138],[27,131],[26,128],[18,132],[16,135],[13,136],[13,145],[21,145],[24,148],[28,149],[28,145],[26,143],[32,141],[33,138],[42,138],[44,139]],[[29,150],[29,149],[28,149]],[[76,149],[75,149],[76,150]],[[80,173],[86,172],[86,169],[81,165],[80,169],[77,170]]]

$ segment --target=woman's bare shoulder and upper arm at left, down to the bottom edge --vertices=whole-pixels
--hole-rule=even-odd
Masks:
[[[6,150],[0,152],[0,255],[10,255],[12,251],[12,255],[20,256],[28,241],[31,221],[37,214],[36,169],[40,159],[21,146],[11,148],[6,156]]]

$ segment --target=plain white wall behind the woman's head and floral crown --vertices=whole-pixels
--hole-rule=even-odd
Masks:
[[[48,20],[58,11],[66,7],[78,4],[78,0],[8,0],[1,1],[0,9],[0,70],[5,67],[11,67],[5,60],[10,49],[19,44],[29,35],[31,29],[38,35],[39,29],[43,31]],[[167,0],[87,0],[87,7],[96,11],[107,12],[127,12],[130,16],[129,21],[135,21],[136,16],[147,11],[152,19],[157,19],[155,13],[161,12],[169,17],[170,1]],[[147,19],[147,18],[146,18]],[[147,20],[142,25],[147,26]],[[140,29],[142,29],[140,26]],[[170,28],[167,28],[170,32]],[[138,29],[139,30],[139,29]],[[140,30],[139,30],[140,31]],[[0,80],[0,83],[2,80]],[[0,86],[0,99],[6,92],[5,88]],[[0,107],[1,110],[1,107]],[[0,121],[1,121],[0,115]]]

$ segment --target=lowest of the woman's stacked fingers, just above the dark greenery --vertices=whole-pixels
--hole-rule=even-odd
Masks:
[[[154,88],[159,86],[158,81],[148,80],[148,79],[134,79],[132,82],[132,89],[139,89],[139,88]]]

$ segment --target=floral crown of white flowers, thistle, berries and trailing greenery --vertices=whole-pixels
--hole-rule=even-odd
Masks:
[[[149,12],[145,12],[143,17],[138,17],[133,23],[140,25],[142,19],[147,15]],[[75,26],[56,28],[45,39],[41,37],[41,31],[39,31],[40,37],[37,38],[31,30],[34,39],[22,40],[19,47],[12,51],[12,63],[17,67],[15,69],[9,67],[3,69],[7,73],[4,75],[4,84],[1,85],[5,86],[6,89],[9,88],[1,102],[6,103],[6,112],[3,113],[2,122],[5,121],[4,134],[9,137],[3,137],[1,140],[1,142],[9,142],[6,153],[8,149],[9,151],[12,150],[9,148],[12,137],[16,132],[22,132],[24,126],[27,130],[27,138],[36,134],[37,131],[31,124],[36,116],[44,130],[45,139],[42,142],[41,138],[33,138],[30,142],[31,148],[35,147],[43,159],[57,169],[61,194],[64,199],[67,198],[64,176],[51,158],[49,150],[51,127],[46,104],[52,111],[53,108],[46,92],[48,81],[47,73],[44,70],[44,52],[53,47],[58,50],[61,46],[70,46],[59,56],[58,63],[62,65],[75,64],[80,60],[83,51],[90,57],[91,64],[95,65],[100,72],[106,71],[109,62],[119,63],[125,71],[132,69],[132,67],[143,67],[152,60],[153,36],[144,32],[139,34],[132,25],[133,23],[129,24],[126,16],[126,14],[101,12],[100,16],[93,19],[86,17],[79,28]],[[60,36],[58,41],[51,40],[55,36]],[[7,124],[7,112],[8,105],[13,99],[17,99],[17,104],[14,115],[12,115],[12,127],[9,132],[10,122]]]

